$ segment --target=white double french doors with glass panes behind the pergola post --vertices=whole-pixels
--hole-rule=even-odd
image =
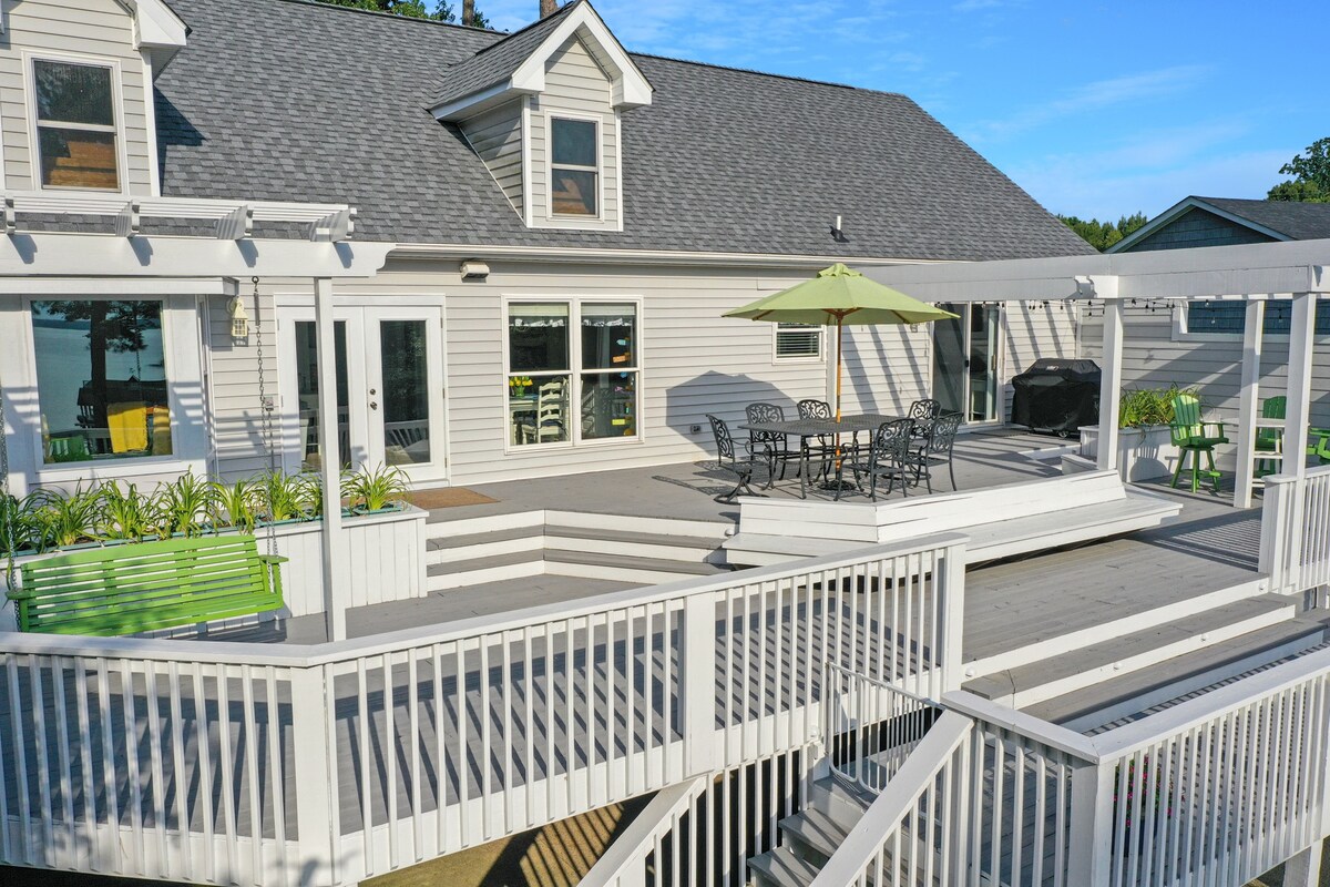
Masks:
[[[318,335],[311,307],[278,313],[287,471],[319,456]],[[334,309],[342,467],[394,465],[414,481],[447,477],[443,324],[438,307]]]

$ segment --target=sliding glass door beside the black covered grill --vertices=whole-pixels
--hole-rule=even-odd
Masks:
[[[1001,422],[1001,306],[939,305],[960,315],[932,324],[932,396],[971,424]]]

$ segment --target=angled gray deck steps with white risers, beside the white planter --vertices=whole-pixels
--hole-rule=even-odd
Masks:
[[[729,525],[580,512],[531,511],[432,521],[428,589],[524,576],[666,582],[726,569]]]

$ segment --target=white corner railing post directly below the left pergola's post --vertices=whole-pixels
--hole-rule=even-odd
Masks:
[[[335,884],[338,878],[338,818],[332,810],[332,750],[329,747],[323,666],[291,670],[291,747],[295,749],[295,822],[299,827],[299,883]]]

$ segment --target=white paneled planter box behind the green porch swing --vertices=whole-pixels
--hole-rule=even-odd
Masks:
[[[428,512],[408,505],[402,511],[343,517],[343,540],[350,552],[351,601],[347,606],[364,606],[400,601],[426,594],[426,517]],[[267,529],[255,531],[261,552],[267,551]],[[277,527],[277,553],[289,557],[282,564],[282,593],[286,606],[279,613],[265,613],[263,620],[285,616],[313,616],[323,612],[323,524],[293,523]],[[129,544],[129,543],[126,543]],[[16,565],[47,557],[29,555],[15,559]],[[4,580],[0,578],[0,588]],[[0,597],[0,632],[15,626],[13,605]],[[253,622],[253,617],[227,620],[215,628]]]

